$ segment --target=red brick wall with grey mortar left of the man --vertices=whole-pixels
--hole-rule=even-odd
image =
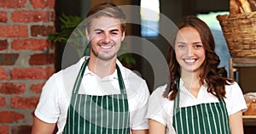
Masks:
[[[0,134],[28,134],[54,69],[55,0],[0,0]]]

